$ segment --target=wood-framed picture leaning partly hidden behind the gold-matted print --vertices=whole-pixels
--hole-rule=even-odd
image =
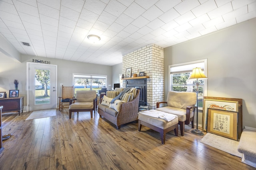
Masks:
[[[233,101],[234,100],[234,101]],[[232,98],[216,98],[216,97],[204,97],[203,103],[203,124],[202,129],[207,129],[207,113],[208,108],[211,109],[222,109],[228,111],[238,111],[238,100]]]

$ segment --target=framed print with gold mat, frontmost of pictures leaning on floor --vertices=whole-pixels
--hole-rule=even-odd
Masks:
[[[238,140],[238,112],[208,108],[207,132]]]

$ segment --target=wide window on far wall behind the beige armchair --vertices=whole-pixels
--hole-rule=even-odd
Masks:
[[[73,74],[74,77],[74,91],[77,90],[100,90],[106,88],[107,76],[101,75],[86,75]]]

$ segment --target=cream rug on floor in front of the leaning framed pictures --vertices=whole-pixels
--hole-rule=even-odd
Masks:
[[[238,141],[234,141],[232,139],[228,139],[225,137],[221,137],[218,135],[214,135],[212,133],[207,133],[203,139],[200,140],[201,143],[214,147],[216,149],[222,150],[234,156],[238,156],[240,158],[243,157],[243,154],[238,152]]]

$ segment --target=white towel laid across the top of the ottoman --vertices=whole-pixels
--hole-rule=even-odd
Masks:
[[[156,117],[160,119],[164,119],[166,121],[172,121],[175,119],[175,117],[178,117],[176,115],[170,114],[170,113],[165,113],[163,111],[158,111],[158,110],[146,110],[146,111],[140,111],[140,114],[151,116],[151,117]]]

